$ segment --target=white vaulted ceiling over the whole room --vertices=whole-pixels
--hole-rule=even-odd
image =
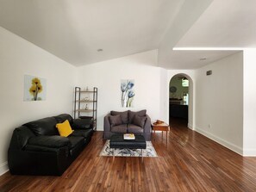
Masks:
[[[159,66],[198,68],[256,46],[255,18],[255,0],[0,0],[1,27],[77,66],[159,49]]]

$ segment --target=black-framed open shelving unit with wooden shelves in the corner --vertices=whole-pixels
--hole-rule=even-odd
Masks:
[[[84,119],[84,117],[92,119],[94,130],[97,130],[97,87],[94,87],[93,90],[89,90],[88,87],[84,90],[75,87],[74,119]]]

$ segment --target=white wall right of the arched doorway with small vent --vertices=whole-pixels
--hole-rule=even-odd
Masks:
[[[197,132],[242,154],[243,53],[198,69],[196,84]]]

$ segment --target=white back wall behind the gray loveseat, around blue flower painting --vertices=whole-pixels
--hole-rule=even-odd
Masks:
[[[98,88],[97,129],[103,130],[103,117],[110,110],[147,109],[152,118],[166,121],[166,71],[156,66],[157,51],[138,53],[78,68],[78,86]],[[121,79],[134,79],[134,108],[121,108]]]

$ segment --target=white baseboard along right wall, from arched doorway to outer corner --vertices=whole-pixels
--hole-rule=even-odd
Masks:
[[[240,148],[240,146],[235,146],[234,144],[229,143],[228,141],[221,139],[221,138],[215,136],[214,134],[206,132],[198,127],[196,127],[195,131],[203,134],[205,137],[208,137],[209,139],[214,140],[215,142],[221,144],[222,146],[227,147],[231,151],[236,152],[236,153],[240,154],[241,156],[244,156],[243,149]]]

